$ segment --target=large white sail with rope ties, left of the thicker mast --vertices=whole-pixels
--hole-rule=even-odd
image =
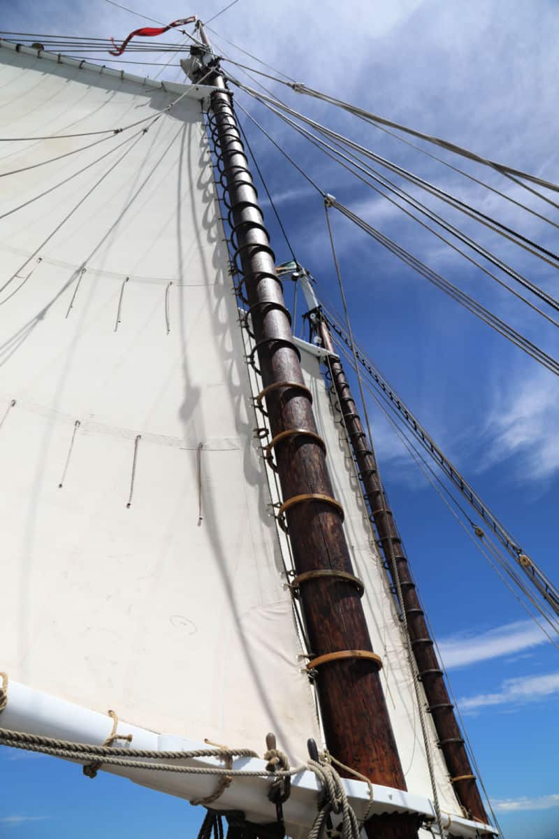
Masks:
[[[0,62],[1,138],[122,128],[189,89],[6,47]],[[0,179],[0,670],[156,732],[261,753],[272,730],[295,760],[318,723],[203,93],[114,137],[0,143],[3,175],[109,137]]]

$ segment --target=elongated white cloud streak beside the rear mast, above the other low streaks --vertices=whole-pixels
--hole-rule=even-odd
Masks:
[[[515,621],[481,633],[461,633],[445,638],[439,642],[439,649],[445,666],[451,669],[519,653],[546,641],[546,636],[533,621]]]

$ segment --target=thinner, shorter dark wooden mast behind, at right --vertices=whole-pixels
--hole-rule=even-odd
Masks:
[[[318,321],[318,334],[323,347],[334,352],[328,324],[321,318]],[[344,367],[339,360],[329,362],[332,384],[339,402],[339,410],[344,417],[349,441],[365,489],[380,545],[386,565],[391,573],[392,583],[396,586],[396,577],[392,565],[392,553],[400,578],[403,607],[406,612],[411,649],[417,662],[417,670],[427,696],[428,711],[437,731],[438,742],[443,750],[453,788],[458,800],[468,810],[468,816],[487,823],[487,815],[479,795],[478,784],[469,762],[462,732],[458,726],[454,707],[448,696],[443,670],[437,659],[433,641],[427,627],[424,612],[417,596],[417,588],[411,577],[410,566],[406,559],[401,539],[396,529],[394,515],[383,492],[377,465],[370,443],[351,395],[351,388],[345,378]]]

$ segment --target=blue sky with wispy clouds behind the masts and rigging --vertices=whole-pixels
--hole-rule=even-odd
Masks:
[[[169,0],[157,7],[147,0],[125,4],[165,21],[189,13],[209,18],[225,5],[216,0],[192,8]],[[141,18],[106,0],[16,2],[3,7],[4,29],[121,38],[142,25]],[[215,21],[215,29],[309,86],[557,180],[557,3],[349,0],[341,8],[334,0],[240,0]],[[215,38],[216,47],[221,44]],[[233,48],[224,48],[236,54]],[[137,72],[154,75],[157,70]],[[178,76],[173,64],[161,75]],[[556,249],[555,231],[549,225],[375,128],[273,82],[265,83],[293,107]],[[431,234],[392,211],[364,185],[321,159],[262,107],[242,94],[239,100],[326,191],[557,357],[552,326]],[[246,120],[244,124],[299,261],[318,278],[318,294],[323,289],[338,305],[320,197]],[[489,170],[475,170],[466,161],[458,165],[559,221],[558,211]],[[443,211],[434,199],[426,203]],[[289,254],[269,209],[265,204],[273,247],[281,261]],[[556,296],[552,268],[474,222],[446,210],[444,215]],[[556,379],[349,221],[334,214],[333,224],[356,336],[525,550],[552,578],[559,577]],[[557,650],[535,631],[515,598],[417,475],[390,428],[372,406],[371,410],[396,519],[505,836],[554,839],[559,835]],[[132,832],[141,839],[154,831],[182,836],[194,831],[203,815],[182,801],[126,781],[102,774],[91,781],[73,766],[8,750],[0,753],[0,779],[0,836],[14,839],[76,833],[86,839],[99,833]]]

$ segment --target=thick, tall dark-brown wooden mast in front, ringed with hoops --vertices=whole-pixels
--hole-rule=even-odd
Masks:
[[[201,25],[199,34],[209,46]],[[285,435],[273,449],[284,504],[290,502],[286,519],[296,570],[298,574],[323,569],[352,574],[343,513],[328,500],[333,490],[323,445],[316,439],[312,397],[303,384],[282,284],[277,279],[232,96],[219,66],[209,83],[219,88],[211,95],[210,129],[222,183],[225,179],[231,238],[235,258],[241,263],[263,388],[275,385],[266,394],[272,435],[276,438],[295,429],[310,432]],[[316,576],[303,586],[301,602],[314,658],[347,650],[373,651],[359,592],[351,581]],[[334,757],[377,784],[406,789],[375,661],[329,660],[317,667],[316,683],[326,743]],[[375,839],[412,839],[417,836],[417,816],[373,817],[367,823],[369,831]]]

